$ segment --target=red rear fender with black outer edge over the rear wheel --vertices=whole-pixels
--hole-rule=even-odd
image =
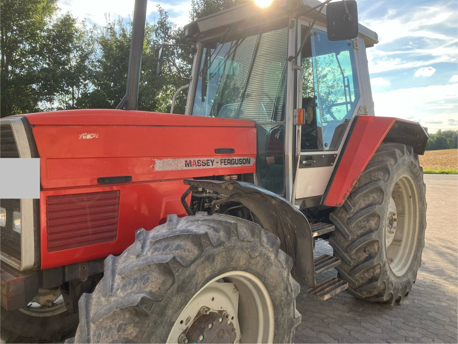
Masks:
[[[428,134],[418,122],[395,117],[357,116],[329,180],[323,204],[329,207],[344,204],[382,142],[402,143],[422,155],[427,141]]]

